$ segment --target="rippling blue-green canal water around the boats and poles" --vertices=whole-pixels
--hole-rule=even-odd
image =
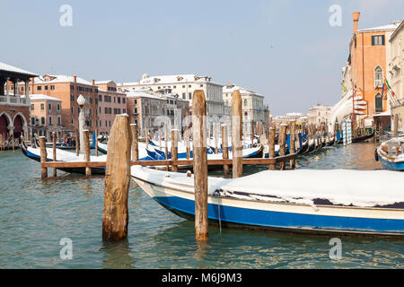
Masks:
[[[327,147],[300,156],[297,168],[380,170],[374,148]],[[338,185],[338,178],[329,184]],[[41,180],[38,162],[21,151],[0,152],[0,268],[404,268],[399,239],[343,237],[339,260],[329,257],[328,237],[209,227],[208,244],[198,246],[194,222],[133,186],[128,238],[104,244],[103,187],[103,178]],[[60,257],[63,238],[72,240],[71,260]]]

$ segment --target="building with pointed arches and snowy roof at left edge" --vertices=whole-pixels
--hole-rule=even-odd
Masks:
[[[37,74],[0,62],[0,135],[4,140],[31,137],[29,85]],[[19,89],[19,83],[22,88]],[[25,94],[25,97],[22,96]]]

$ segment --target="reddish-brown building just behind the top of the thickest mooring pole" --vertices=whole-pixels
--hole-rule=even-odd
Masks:
[[[110,135],[110,129],[115,117],[127,113],[127,94],[118,91],[117,84],[113,81],[95,82],[98,87],[96,127],[102,135]]]

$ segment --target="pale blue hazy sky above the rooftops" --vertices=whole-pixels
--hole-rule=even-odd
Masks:
[[[69,19],[64,4],[72,25],[60,24]],[[329,12],[335,4],[340,18]],[[338,102],[353,12],[361,12],[359,29],[404,19],[402,0],[2,0],[0,7],[0,62],[116,83],[145,73],[208,75],[264,95],[274,116]]]

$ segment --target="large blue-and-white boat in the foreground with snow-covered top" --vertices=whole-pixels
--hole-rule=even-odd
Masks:
[[[193,176],[140,166],[132,167],[131,176],[163,207],[194,219]],[[339,184],[330,184],[336,178]],[[404,235],[402,176],[389,170],[266,170],[243,178],[209,177],[207,209],[209,222],[224,227]]]

